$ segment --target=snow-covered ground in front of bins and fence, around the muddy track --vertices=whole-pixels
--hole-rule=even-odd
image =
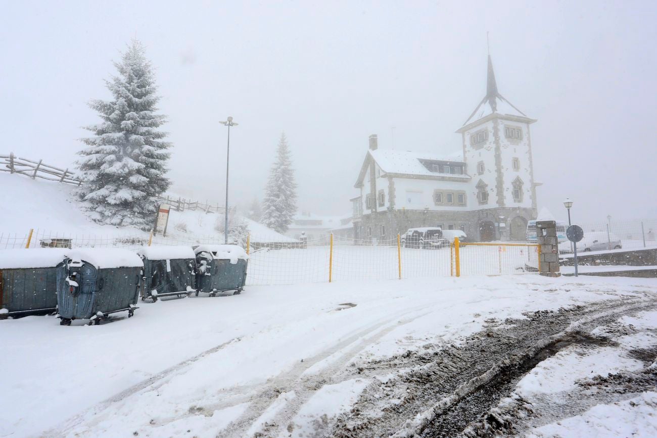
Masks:
[[[636,278],[470,276],[252,286],[140,303],[100,326],[3,320],[0,436],[313,436],[373,381],[344,374],[353,366],[462,343],[491,318],[652,296],[654,281]],[[581,372],[546,365],[545,378],[569,388],[586,372],[638,366],[598,354],[564,362]],[[654,395],[641,397],[651,406]]]

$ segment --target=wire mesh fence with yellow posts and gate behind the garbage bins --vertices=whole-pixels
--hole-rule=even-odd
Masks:
[[[250,240],[250,239],[249,239]],[[223,236],[152,234],[74,234],[30,230],[0,234],[0,248],[125,248],[223,244]],[[519,274],[537,271],[535,244],[463,244],[460,252],[444,240],[417,246],[401,239],[317,238],[302,242],[250,242],[247,284],[302,284],[348,280],[387,280],[469,274]],[[460,270],[459,270],[460,269]]]

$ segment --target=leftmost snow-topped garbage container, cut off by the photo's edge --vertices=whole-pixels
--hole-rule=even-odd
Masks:
[[[57,308],[56,248],[0,250],[0,317],[45,315]]]

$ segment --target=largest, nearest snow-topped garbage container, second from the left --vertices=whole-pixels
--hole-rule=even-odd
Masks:
[[[60,324],[68,326],[75,319],[99,324],[101,318],[122,311],[131,317],[137,309],[143,269],[139,255],[128,250],[66,250],[57,266]]]

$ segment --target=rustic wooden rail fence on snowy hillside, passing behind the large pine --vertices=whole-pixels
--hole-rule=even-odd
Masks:
[[[9,173],[20,173],[32,179],[47,179],[49,181],[58,181],[59,183],[73,184],[79,186],[82,180],[76,177],[76,174],[68,168],[60,169],[54,165],[45,164],[43,160],[34,161],[15,156],[13,152],[9,155],[0,155],[0,171]],[[219,204],[208,204],[206,202],[192,201],[185,198],[171,198],[171,196],[159,196],[160,202],[166,202],[175,211],[185,210],[203,210],[206,213],[223,213],[224,207]],[[233,212],[235,208],[229,208],[229,212]]]

